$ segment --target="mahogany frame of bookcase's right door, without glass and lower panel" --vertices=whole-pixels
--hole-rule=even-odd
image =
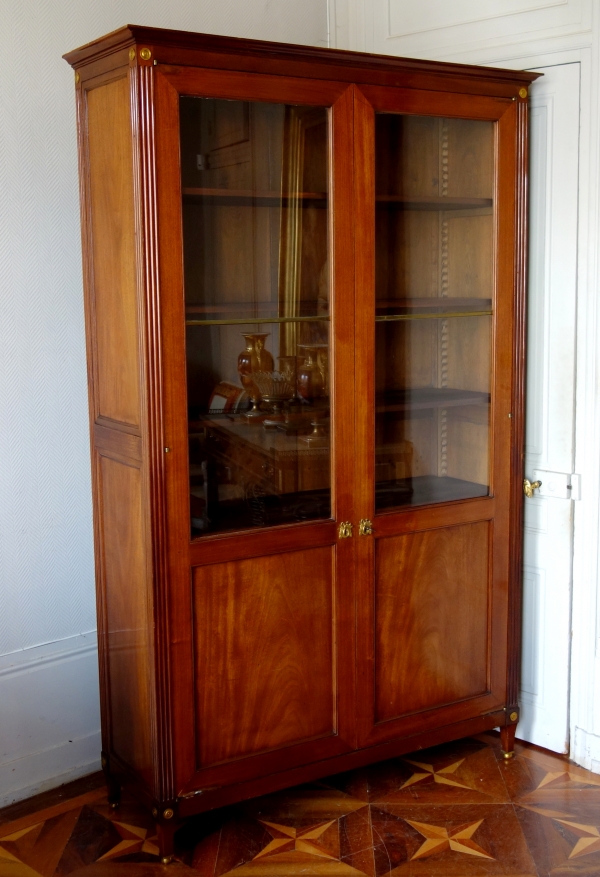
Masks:
[[[492,383],[492,444],[489,497],[407,508],[375,515],[375,176],[374,113],[399,112],[497,123],[496,255]],[[524,149],[527,104],[498,99],[417,92],[410,89],[361,86],[356,89],[355,155],[356,217],[356,395],[359,407],[371,412],[357,423],[357,516],[373,522],[372,537],[357,545],[357,662],[359,745],[377,745],[399,736],[451,724],[475,715],[517,707],[520,629],[521,454],[524,424],[524,265],[525,199],[517,184],[525,178]],[[498,289],[506,291],[498,295]],[[508,294],[508,293],[511,294]],[[488,624],[488,690],[451,704],[432,705],[417,713],[378,722],[375,715],[376,620],[374,581],[377,542],[402,534],[424,532],[461,523],[489,521],[493,544]],[[508,664],[507,664],[508,660]],[[508,672],[506,667],[508,666]]]

